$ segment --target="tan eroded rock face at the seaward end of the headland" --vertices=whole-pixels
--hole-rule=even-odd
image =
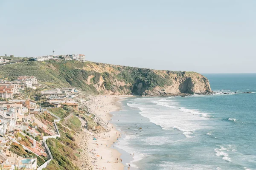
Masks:
[[[152,70],[102,63],[91,63],[90,70],[103,74],[100,81],[93,84],[103,94],[175,96],[212,93],[208,79],[196,72]],[[91,81],[87,80],[89,82]]]

